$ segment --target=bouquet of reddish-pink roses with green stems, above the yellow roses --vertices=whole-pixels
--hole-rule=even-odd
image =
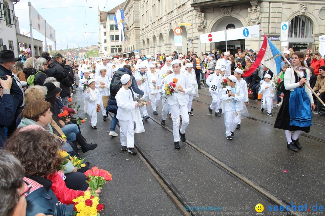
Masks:
[[[91,169],[85,172],[89,181],[86,181],[91,188],[90,194],[97,197],[95,193],[96,190],[102,189],[104,183],[112,180],[112,175],[109,172],[103,169],[98,169],[97,166],[92,167]]]

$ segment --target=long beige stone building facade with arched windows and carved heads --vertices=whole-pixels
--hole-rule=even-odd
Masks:
[[[325,33],[325,7],[309,0],[127,0],[123,9],[125,24],[130,28],[122,52],[131,54],[134,50],[139,50],[139,54],[225,51],[225,41],[201,44],[200,35],[260,24],[267,36],[277,39],[281,21],[290,22],[288,48],[314,51],[318,49],[318,37]],[[174,28],[178,23],[192,26],[180,26],[182,46],[177,48]],[[284,50],[280,40],[273,42]],[[227,41],[227,50],[258,50],[258,45],[258,38],[233,40]]]

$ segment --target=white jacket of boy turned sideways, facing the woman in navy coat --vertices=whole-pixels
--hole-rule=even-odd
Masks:
[[[133,111],[136,102],[133,101],[131,90],[125,90],[122,86],[115,95],[115,99],[118,107],[116,118],[122,121],[127,121],[133,118]]]

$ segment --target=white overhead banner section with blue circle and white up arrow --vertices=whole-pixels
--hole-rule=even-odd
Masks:
[[[228,29],[227,40],[240,40],[246,38],[258,38],[260,37],[260,25],[247,26],[242,28]]]

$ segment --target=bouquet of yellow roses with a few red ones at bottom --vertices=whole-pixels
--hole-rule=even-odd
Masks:
[[[97,216],[104,209],[104,205],[99,204],[98,197],[91,195],[89,191],[80,192],[72,201],[74,202],[73,216]]]

